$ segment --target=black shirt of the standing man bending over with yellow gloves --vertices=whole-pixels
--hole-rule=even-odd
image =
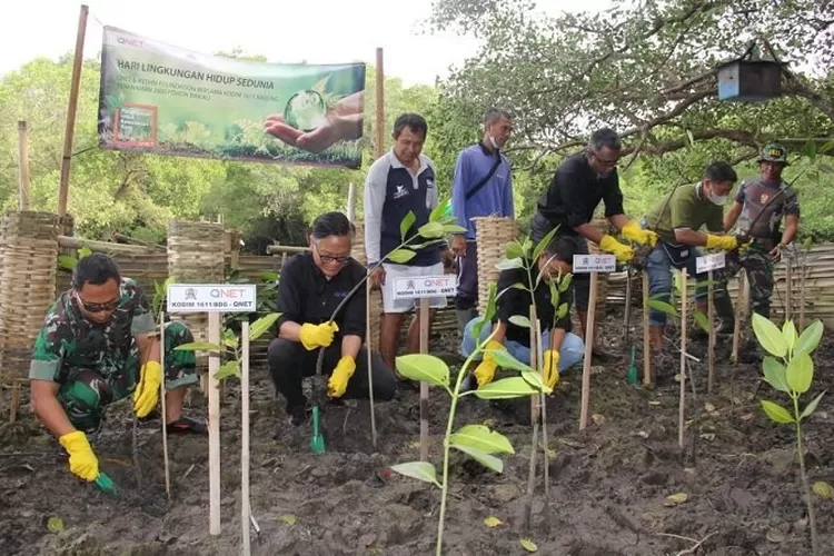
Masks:
[[[576,228],[594,218],[602,200],[606,218],[624,212],[617,170],[600,178],[585,155],[579,153],[568,157],[556,170],[550,187],[538,200],[538,212],[552,229],[559,227],[559,235],[576,236]]]

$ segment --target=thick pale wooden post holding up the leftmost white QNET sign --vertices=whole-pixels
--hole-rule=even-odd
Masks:
[[[208,314],[208,340],[220,345],[220,314]],[[220,534],[220,385],[216,378],[220,369],[220,354],[209,354],[206,380],[209,409],[209,534]]]

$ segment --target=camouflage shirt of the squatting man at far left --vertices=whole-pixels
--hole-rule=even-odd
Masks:
[[[60,295],[49,308],[34,340],[29,378],[63,384],[70,371],[95,369],[105,377],[121,373],[133,346],[133,337],[155,330],[148,298],[130,278],[122,278],[121,298],[106,325],[87,320],[72,290]]]

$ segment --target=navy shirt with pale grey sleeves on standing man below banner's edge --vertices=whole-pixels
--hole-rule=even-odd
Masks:
[[[417,173],[403,166],[391,149],[379,157],[365,180],[365,249],[368,265],[378,262],[403,242],[399,225],[408,212],[417,217],[406,238],[428,222],[431,210],[439,203],[435,185],[435,165],[420,155]],[[421,240],[417,240],[423,242]],[[440,261],[440,246],[430,245],[417,250],[409,266],[427,267]]]

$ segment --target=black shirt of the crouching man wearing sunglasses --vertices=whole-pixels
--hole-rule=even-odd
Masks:
[[[354,259],[348,259],[339,274],[328,280],[316,266],[311,252],[295,255],[281,270],[278,282],[277,310],[281,312],[278,327],[287,321],[299,325],[327,322],[363,278],[365,268]],[[337,336],[365,337],[365,287],[359,287],[336,315]]]

